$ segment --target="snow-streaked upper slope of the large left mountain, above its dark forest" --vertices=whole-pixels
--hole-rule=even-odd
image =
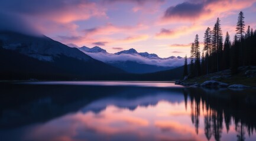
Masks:
[[[29,36],[15,32],[0,32],[3,48],[18,51],[40,61],[53,61],[54,57],[65,55],[83,61],[92,61],[90,56],[76,48],[69,48],[47,36]]]

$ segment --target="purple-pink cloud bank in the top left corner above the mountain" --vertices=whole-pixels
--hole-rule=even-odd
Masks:
[[[53,31],[52,25],[105,16],[105,11],[89,0],[0,1],[0,9],[0,30],[22,33]]]

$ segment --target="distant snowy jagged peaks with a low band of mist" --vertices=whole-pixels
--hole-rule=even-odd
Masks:
[[[129,73],[158,72],[177,68],[184,63],[184,59],[180,56],[177,56],[177,58],[175,56],[160,58],[154,53],[137,52],[133,48],[116,53],[108,53],[99,46],[93,48],[82,46],[79,50],[94,59],[108,63]]]

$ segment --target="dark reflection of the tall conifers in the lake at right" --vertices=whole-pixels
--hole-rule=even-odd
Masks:
[[[186,89],[186,93],[189,93],[191,108],[195,111],[192,112],[192,119],[195,117],[197,121],[197,115],[200,115],[200,109],[198,110],[197,107],[200,107],[201,103],[203,111],[206,109],[203,115],[205,117],[205,136],[208,140],[212,135],[215,140],[221,140],[223,120],[226,133],[229,133],[231,129],[235,130],[236,140],[255,139],[251,137],[256,127],[254,90],[232,92],[224,89],[209,92],[208,89]],[[197,122],[193,123],[197,130]]]

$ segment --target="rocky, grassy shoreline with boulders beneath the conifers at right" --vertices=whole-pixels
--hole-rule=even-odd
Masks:
[[[208,87],[208,88],[232,88],[232,89],[256,89],[256,66],[241,66],[239,73],[231,75],[231,69],[222,70],[215,73],[209,73],[199,77],[183,80],[176,80],[176,85],[190,87]],[[203,83],[208,85],[203,86]],[[222,85],[225,83],[225,85]]]

